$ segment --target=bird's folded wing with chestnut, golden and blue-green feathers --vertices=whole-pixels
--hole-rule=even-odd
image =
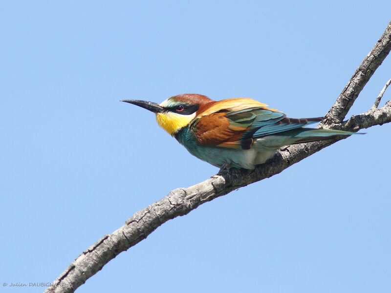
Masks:
[[[253,139],[316,123],[322,118],[291,119],[251,99],[216,102],[199,113],[190,130],[200,145],[249,149]]]

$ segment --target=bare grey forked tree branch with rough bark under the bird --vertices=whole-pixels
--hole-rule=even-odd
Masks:
[[[375,108],[371,108],[363,114],[352,116],[348,121],[342,123],[351,105],[353,105],[365,84],[390,50],[391,22],[368,56],[357,68],[320,126],[358,131],[362,128],[391,122],[391,101],[389,101],[381,108],[377,109],[376,105]],[[120,252],[126,251],[142,241],[153,230],[168,220],[183,216],[199,205],[232,190],[278,174],[287,167],[344,138],[287,146],[280,149],[271,160],[253,171],[231,168],[192,187],[178,188],[171,191],[161,200],[136,212],[126,221],[124,226],[112,234],[105,235],[86,251],[83,251],[45,292],[65,293],[75,291]]]

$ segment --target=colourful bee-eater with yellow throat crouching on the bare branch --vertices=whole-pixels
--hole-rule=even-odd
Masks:
[[[307,128],[323,117],[293,119],[250,98],[214,101],[180,94],[162,103],[122,100],[156,114],[159,126],[192,155],[222,169],[254,169],[282,146],[333,139],[354,132]]]

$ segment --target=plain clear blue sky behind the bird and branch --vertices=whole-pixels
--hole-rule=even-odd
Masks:
[[[119,100],[251,97],[319,117],[389,12],[386,0],[1,1],[1,284],[53,281],[135,211],[218,171]],[[348,117],[390,78],[389,56]],[[164,224],[77,292],[390,292],[390,131]],[[43,290],[1,285],[27,291]]]

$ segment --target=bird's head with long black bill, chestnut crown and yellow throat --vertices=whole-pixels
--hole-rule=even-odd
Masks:
[[[208,97],[197,94],[177,95],[164,100],[160,104],[139,100],[123,100],[122,102],[152,111],[156,114],[159,126],[173,136],[176,131],[187,126],[198,113],[215,103]]]

